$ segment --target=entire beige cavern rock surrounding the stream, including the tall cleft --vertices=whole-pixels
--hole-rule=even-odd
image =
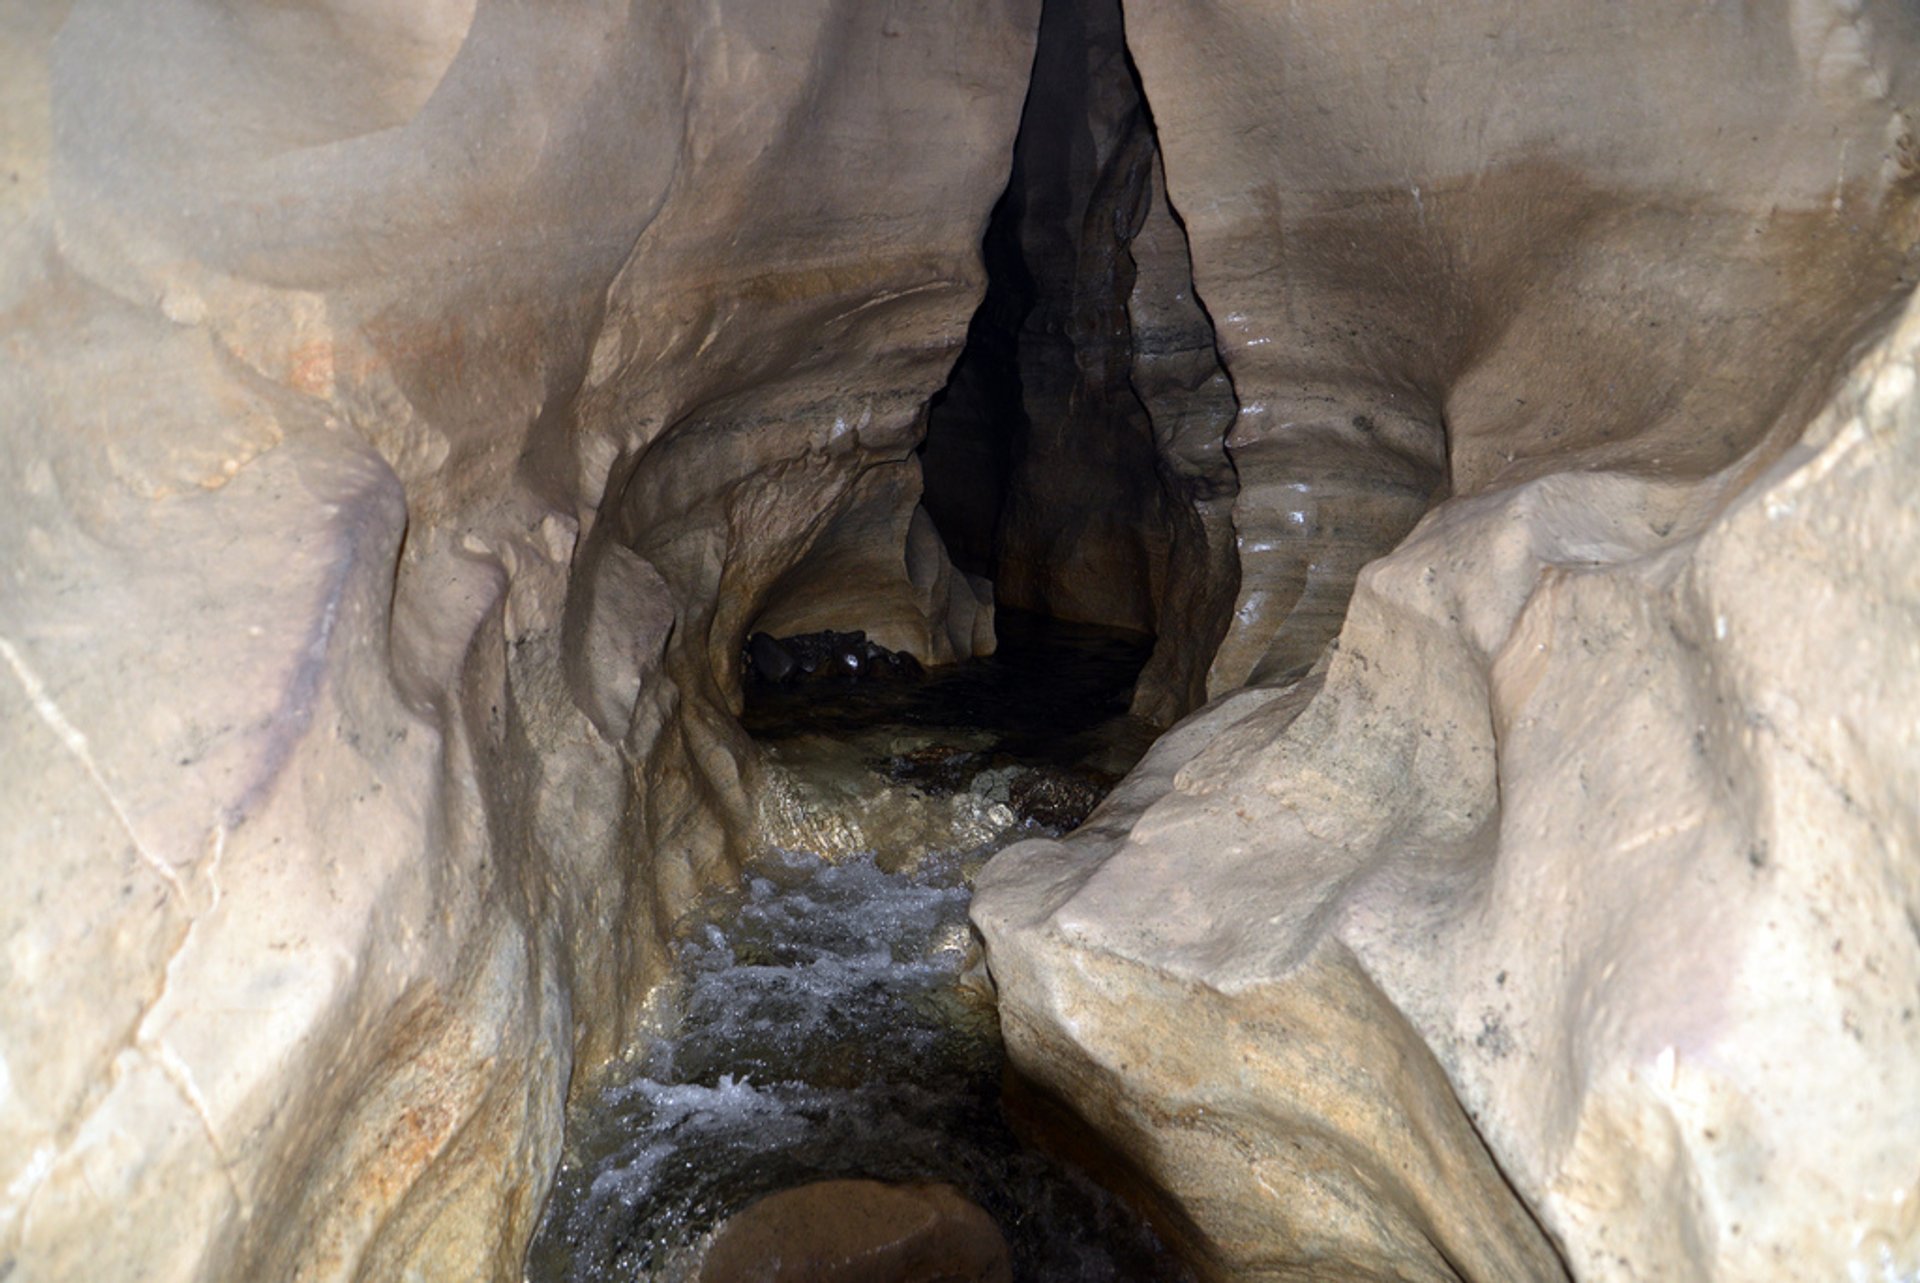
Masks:
[[[741,645],[987,570],[1158,638],[973,920],[1202,1275],[1920,1271],[1910,6],[0,33],[0,1275],[518,1277]]]

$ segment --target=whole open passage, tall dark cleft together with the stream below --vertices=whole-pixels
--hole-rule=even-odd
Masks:
[[[749,622],[741,724],[768,851],[682,920],[662,1037],[570,1118],[534,1283],[678,1277],[755,1200],[837,1179],[956,1189],[998,1227],[1012,1277],[1185,1277],[1123,1202],[1016,1139],[968,926],[995,851],[1079,826],[1204,697],[1231,607],[1231,398],[1177,234],[1175,271],[1146,286],[1187,290],[1181,325],[1140,292],[1150,209],[1177,232],[1119,6],[1050,0],[987,292],[927,409],[906,532],[908,580],[958,582],[950,559],[991,636],[966,657],[966,628],[943,651],[897,618],[835,615],[826,597],[860,549],[899,530],[891,482]],[[1165,382],[1169,353],[1188,369],[1156,421],[1140,386]]]

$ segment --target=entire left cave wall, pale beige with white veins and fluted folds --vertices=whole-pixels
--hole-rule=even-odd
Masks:
[[[518,1277],[745,628],[912,524],[1035,23],[0,13],[0,1273]]]

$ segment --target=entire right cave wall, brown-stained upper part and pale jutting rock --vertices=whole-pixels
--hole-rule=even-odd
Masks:
[[[1242,590],[981,874],[1016,1064],[1210,1277],[1912,1277],[1914,12],[1127,38]]]

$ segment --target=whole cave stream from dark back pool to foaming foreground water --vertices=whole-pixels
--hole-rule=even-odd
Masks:
[[[837,1177],[956,1187],[1016,1279],[1187,1277],[1008,1127],[968,926],[985,859],[1071,828],[1150,743],[1125,716],[1146,647],[1016,613],[998,632],[995,657],[924,676],[751,686],[747,728],[797,782],[778,809],[854,849],[768,851],[689,914],[664,1037],[570,1118],[530,1283],[693,1277],[730,1214]],[[881,828],[914,837],[858,847]]]

